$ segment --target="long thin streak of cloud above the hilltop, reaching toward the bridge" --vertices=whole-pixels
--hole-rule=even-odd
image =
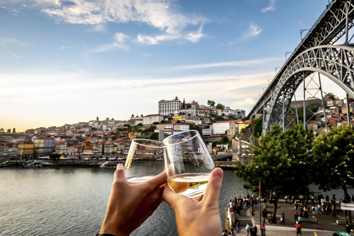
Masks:
[[[206,64],[194,64],[194,65],[182,65],[177,67],[171,67],[170,69],[176,70],[190,70],[190,69],[200,69],[200,68],[212,68],[212,67],[249,67],[258,64],[265,64],[268,62],[280,61],[282,58],[259,58],[254,60],[245,61],[231,61],[231,62],[216,62],[216,63],[206,63]]]

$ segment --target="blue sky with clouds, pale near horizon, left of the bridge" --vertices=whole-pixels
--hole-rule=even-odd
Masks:
[[[327,0],[0,0],[0,126],[250,109]],[[325,86],[324,86],[325,87]]]

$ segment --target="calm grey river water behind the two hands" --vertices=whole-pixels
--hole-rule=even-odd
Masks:
[[[67,167],[0,169],[0,235],[95,235],[104,218],[113,172]],[[343,195],[340,190],[335,193]],[[225,170],[219,200],[223,224],[229,199],[246,194],[242,180]],[[172,209],[162,203],[132,235],[177,236]]]

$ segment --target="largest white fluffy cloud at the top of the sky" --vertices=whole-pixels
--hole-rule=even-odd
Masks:
[[[205,22],[204,17],[183,15],[172,0],[72,0],[73,4],[45,8],[41,12],[56,21],[95,25],[106,22],[143,22],[169,34],[177,34],[187,25]]]

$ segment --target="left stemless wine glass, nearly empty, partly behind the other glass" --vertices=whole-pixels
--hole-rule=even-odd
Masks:
[[[149,139],[133,139],[124,167],[125,178],[131,183],[154,178],[165,170],[163,144]]]

